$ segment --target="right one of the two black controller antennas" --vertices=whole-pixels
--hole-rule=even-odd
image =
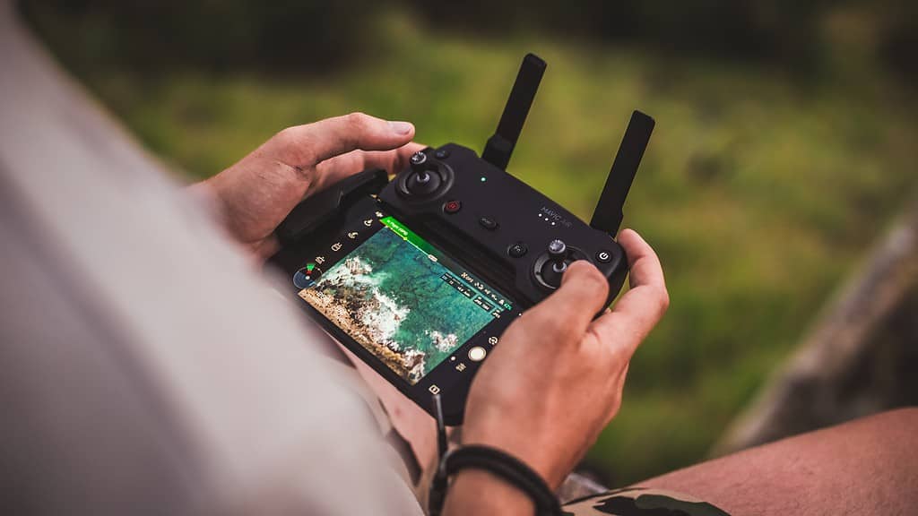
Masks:
[[[621,208],[644,157],[647,143],[650,142],[650,135],[654,132],[654,125],[654,118],[636,110],[632,113],[625,135],[621,138],[619,151],[615,154],[615,161],[612,162],[609,177],[606,178],[606,185],[599,196],[599,203],[593,212],[593,219],[589,221],[592,228],[612,236],[619,232]]]

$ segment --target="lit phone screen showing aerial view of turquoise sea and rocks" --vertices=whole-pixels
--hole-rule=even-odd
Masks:
[[[392,217],[328,270],[307,264],[299,297],[409,384],[513,309],[508,297]]]

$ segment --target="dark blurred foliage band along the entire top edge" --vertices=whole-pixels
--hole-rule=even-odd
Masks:
[[[81,70],[314,74],[375,57],[371,21],[398,6],[431,32],[506,38],[521,32],[639,45],[673,55],[760,62],[813,73],[830,6],[873,19],[872,44],[892,68],[918,73],[918,5],[910,0],[553,2],[430,0],[28,0],[23,13]],[[78,40],[63,41],[79,34]]]

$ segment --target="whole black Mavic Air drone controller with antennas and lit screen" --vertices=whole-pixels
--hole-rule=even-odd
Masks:
[[[634,111],[590,223],[506,171],[545,62],[522,62],[497,132],[479,157],[448,143],[414,154],[390,182],[353,175],[308,197],[277,228],[271,259],[307,313],[428,412],[462,422],[472,378],[526,308],[586,260],[628,273],[613,239],[654,120]]]

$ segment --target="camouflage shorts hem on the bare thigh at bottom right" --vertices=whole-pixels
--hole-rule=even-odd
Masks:
[[[565,504],[567,516],[730,516],[710,503],[652,488],[623,488]]]

